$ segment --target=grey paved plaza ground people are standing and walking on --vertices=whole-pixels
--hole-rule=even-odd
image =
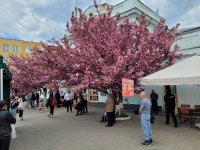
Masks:
[[[47,112],[25,111],[24,120],[17,121],[17,139],[10,150],[198,150],[200,131],[189,126],[174,128],[156,117],[152,126],[154,144],[143,146],[139,117],[118,121],[105,128],[100,120],[103,109],[90,108],[89,113],[75,116],[64,108],[55,109],[55,117]]]

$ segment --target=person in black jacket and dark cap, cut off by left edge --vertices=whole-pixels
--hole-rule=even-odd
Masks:
[[[5,101],[0,101],[0,150],[9,150],[12,132],[10,125],[16,123],[16,119],[6,110]]]

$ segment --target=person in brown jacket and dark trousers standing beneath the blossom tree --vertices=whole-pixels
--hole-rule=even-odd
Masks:
[[[108,120],[108,125],[106,127],[112,127],[113,126],[113,110],[114,110],[114,99],[112,94],[108,95],[108,98],[106,102],[104,103],[104,111],[106,112],[107,115],[107,120]]]

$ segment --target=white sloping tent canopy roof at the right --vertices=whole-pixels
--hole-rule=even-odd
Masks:
[[[142,85],[192,85],[200,84],[200,55],[169,66],[140,79]]]

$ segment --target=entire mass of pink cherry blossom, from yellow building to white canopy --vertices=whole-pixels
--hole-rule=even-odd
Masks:
[[[182,56],[173,43],[180,38],[178,24],[173,28],[161,19],[151,31],[142,13],[137,22],[120,14],[112,16],[112,6],[105,13],[86,16],[81,9],[72,13],[66,37],[34,48],[32,57],[11,57],[14,85],[25,91],[41,87],[70,86],[74,90],[96,89],[107,93],[115,85],[121,88],[122,77],[140,86],[138,80],[163,69]],[[72,46],[73,44],[73,46]]]

